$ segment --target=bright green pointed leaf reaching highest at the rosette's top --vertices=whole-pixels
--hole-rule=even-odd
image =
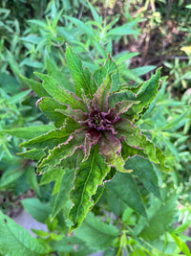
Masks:
[[[96,81],[93,80],[89,69],[83,68],[81,60],[73,53],[70,46],[67,46],[66,59],[74,80],[75,95],[81,97],[83,89],[86,95],[93,97],[97,89]]]

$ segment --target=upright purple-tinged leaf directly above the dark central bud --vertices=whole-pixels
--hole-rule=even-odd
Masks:
[[[96,105],[96,108],[100,112],[107,112],[108,111],[108,97],[112,89],[112,78],[111,74],[107,76],[106,79],[103,80],[103,83],[97,89],[96,93],[94,94],[93,103]]]

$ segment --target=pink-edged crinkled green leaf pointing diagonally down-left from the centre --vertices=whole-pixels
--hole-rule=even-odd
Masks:
[[[38,165],[37,173],[43,174],[48,172],[50,167],[59,165],[62,159],[70,157],[77,149],[83,149],[84,139],[85,129],[76,129],[66,142],[59,144],[52,151],[49,151],[48,156]]]

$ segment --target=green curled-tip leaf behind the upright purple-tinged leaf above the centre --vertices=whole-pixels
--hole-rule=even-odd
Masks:
[[[116,71],[114,73],[114,71]],[[108,58],[106,59],[105,63],[95,71],[93,77],[96,80],[96,83],[100,86],[103,82],[103,79],[106,78],[109,74],[113,73],[112,75],[112,81],[113,81],[113,87],[112,91],[117,90],[119,78],[118,78],[118,70],[117,65],[114,61],[114,59],[108,55]]]

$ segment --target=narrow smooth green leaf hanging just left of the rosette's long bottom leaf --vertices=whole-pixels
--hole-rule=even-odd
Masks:
[[[59,211],[65,206],[69,200],[69,192],[72,189],[74,179],[74,171],[65,170],[65,174],[62,176],[59,191],[54,198],[53,204],[53,215],[52,220],[59,213]]]

